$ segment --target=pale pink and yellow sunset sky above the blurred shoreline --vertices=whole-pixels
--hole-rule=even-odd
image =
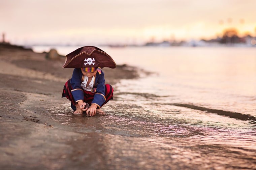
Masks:
[[[256,36],[256,0],[0,0],[12,44],[143,44]],[[0,41],[2,36],[0,37]]]

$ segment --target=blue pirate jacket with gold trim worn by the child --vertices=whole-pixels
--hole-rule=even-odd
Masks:
[[[75,68],[73,70],[73,75],[70,80],[70,84],[72,87],[71,93],[75,102],[84,101],[84,92],[81,87],[82,78],[84,75],[81,71],[81,68]],[[94,76],[94,87],[96,88],[96,92],[92,101],[92,104],[97,105],[99,108],[106,101],[105,98],[105,78],[104,72],[101,70],[101,74],[98,72]]]

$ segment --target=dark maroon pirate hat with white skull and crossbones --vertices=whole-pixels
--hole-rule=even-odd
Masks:
[[[85,46],[66,55],[63,68],[109,67],[116,68],[115,61],[103,50]]]

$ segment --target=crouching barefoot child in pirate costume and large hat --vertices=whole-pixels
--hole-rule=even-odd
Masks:
[[[63,88],[62,97],[71,102],[74,114],[104,114],[100,108],[113,99],[113,88],[105,84],[103,67],[116,68],[115,61],[103,50],[85,46],[66,55],[63,68],[74,68]],[[88,105],[89,104],[89,105]]]

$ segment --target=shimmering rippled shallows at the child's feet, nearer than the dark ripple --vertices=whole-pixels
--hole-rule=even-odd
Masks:
[[[105,116],[73,115],[60,107],[53,118],[77,133],[98,133],[109,169],[255,167],[256,129],[248,121],[128,96],[104,106]]]

